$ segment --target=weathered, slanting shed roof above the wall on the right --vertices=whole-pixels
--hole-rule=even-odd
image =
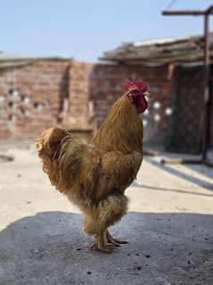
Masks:
[[[213,34],[210,34],[213,56]],[[159,38],[133,43],[124,43],[115,50],[106,52],[102,60],[128,63],[192,63],[203,58],[204,38]]]

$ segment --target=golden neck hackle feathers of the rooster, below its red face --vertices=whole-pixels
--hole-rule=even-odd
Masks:
[[[93,143],[105,152],[143,152],[143,123],[127,94],[111,107],[105,122],[94,135]]]

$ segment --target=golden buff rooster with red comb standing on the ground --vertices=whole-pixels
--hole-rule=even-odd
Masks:
[[[37,138],[38,155],[52,184],[85,214],[92,248],[111,252],[127,241],[108,228],[127,214],[125,189],[143,160],[143,122],[149,93],[141,80],[127,80],[126,93],[112,106],[91,145],[74,140],[67,130],[51,128]]]

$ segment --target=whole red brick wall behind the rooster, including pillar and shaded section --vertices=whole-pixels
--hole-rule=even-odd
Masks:
[[[168,126],[165,111],[171,105],[167,66],[66,61],[39,61],[0,72],[0,138],[34,139],[57,122],[73,132],[92,133],[133,74],[151,92],[143,115],[145,140],[161,142]]]

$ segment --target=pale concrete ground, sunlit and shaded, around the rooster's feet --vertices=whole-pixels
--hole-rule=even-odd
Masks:
[[[112,254],[90,249],[83,217],[51,186],[33,147],[0,146],[1,285],[213,284],[213,169],[144,157]],[[167,154],[164,154],[167,155]]]

